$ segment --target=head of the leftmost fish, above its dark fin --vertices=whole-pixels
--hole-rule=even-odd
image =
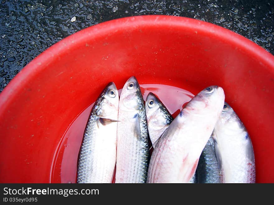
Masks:
[[[105,89],[102,91],[101,98],[99,100],[101,104],[100,111],[98,114],[100,116],[106,116],[111,110],[118,110],[119,107],[119,94],[114,82],[110,82]]]

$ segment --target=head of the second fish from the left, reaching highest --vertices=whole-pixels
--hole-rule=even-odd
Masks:
[[[137,79],[132,76],[125,83],[120,96],[119,109],[125,111],[138,110],[144,101]]]

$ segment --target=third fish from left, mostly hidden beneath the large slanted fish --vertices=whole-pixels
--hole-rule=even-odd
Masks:
[[[163,132],[173,121],[173,117],[161,102],[161,100],[150,92],[145,103],[149,138],[152,145],[155,146]],[[189,183],[197,183],[197,174],[190,179]]]

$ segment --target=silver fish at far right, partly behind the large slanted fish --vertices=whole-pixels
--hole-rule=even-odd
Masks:
[[[224,103],[213,138],[222,183],[255,183],[255,158],[251,139],[234,110]]]

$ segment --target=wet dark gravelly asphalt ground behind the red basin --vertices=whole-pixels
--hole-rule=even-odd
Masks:
[[[274,54],[274,0],[7,1],[0,5],[0,92],[33,58],[83,28],[161,14],[214,23]]]

